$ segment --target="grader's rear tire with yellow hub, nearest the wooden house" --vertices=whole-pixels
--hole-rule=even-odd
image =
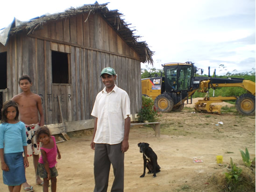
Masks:
[[[157,111],[168,113],[174,105],[173,99],[168,94],[160,94],[155,99],[155,107]]]

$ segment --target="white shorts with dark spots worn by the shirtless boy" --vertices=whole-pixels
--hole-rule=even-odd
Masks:
[[[40,142],[36,142],[36,130],[40,127],[39,123],[25,125],[26,135],[27,135],[27,150],[28,156],[39,155],[40,152]]]

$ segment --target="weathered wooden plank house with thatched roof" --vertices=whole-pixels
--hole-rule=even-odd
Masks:
[[[134,118],[142,105],[141,62],[152,63],[153,52],[121,15],[96,2],[20,24],[14,19],[7,42],[0,43],[2,102],[21,92],[18,79],[27,74],[53,134],[62,131],[61,114],[68,132],[92,128],[94,100],[104,87],[100,71],[110,66],[117,86],[128,92]]]

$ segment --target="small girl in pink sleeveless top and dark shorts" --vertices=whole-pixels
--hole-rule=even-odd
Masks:
[[[43,178],[43,192],[48,192],[49,180],[51,181],[51,192],[56,192],[58,171],[56,157],[61,158],[56,145],[55,137],[50,134],[49,128],[40,127],[36,131],[36,139],[41,142],[41,156],[37,164],[36,175]]]

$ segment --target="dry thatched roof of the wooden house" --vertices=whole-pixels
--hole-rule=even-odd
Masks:
[[[130,46],[135,52],[141,57],[142,63],[153,64],[153,51],[151,51],[146,42],[138,42],[137,39],[140,36],[135,36],[133,30],[131,30],[123,19],[121,19],[121,13],[118,10],[108,10],[107,3],[98,4],[96,1],[94,4],[87,4],[78,8],[69,8],[64,12],[50,15],[42,15],[40,17],[31,19],[27,22],[23,22],[19,26],[11,28],[9,35],[14,35],[19,32],[26,31],[27,34],[31,34],[34,30],[41,28],[45,23],[49,21],[56,21],[71,17],[77,14],[88,13],[94,14],[99,13],[106,18],[108,23],[114,28],[114,30],[121,36],[121,38]]]

